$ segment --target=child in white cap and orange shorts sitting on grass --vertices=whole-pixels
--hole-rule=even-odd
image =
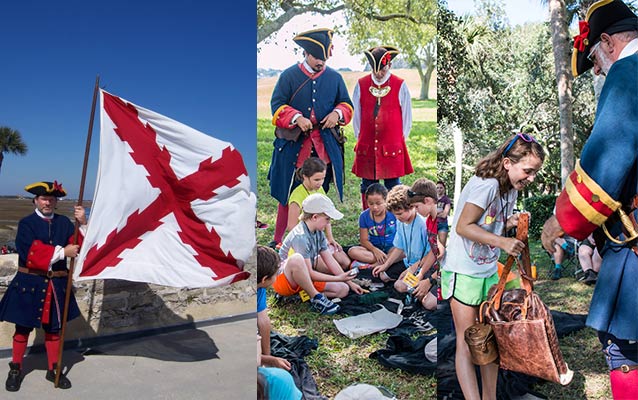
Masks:
[[[328,251],[324,230],[331,219],[341,219],[343,214],[335,208],[332,200],[319,193],[306,197],[301,210],[299,224],[288,233],[279,249],[283,262],[273,289],[282,296],[292,296],[304,290],[310,296],[314,311],[334,314],[339,311],[339,306],[328,298],[346,297],[350,289],[363,293],[359,285],[350,282],[354,275],[343,272]],[[290,250],[294,254],[289,256]],[[320,258],[330,273],[317,271]]]

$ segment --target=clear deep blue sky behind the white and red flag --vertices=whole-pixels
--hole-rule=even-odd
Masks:
[[[0,2],[0,126],[22,134],[5,154],[0,195],[26,184],[80,186],[96,74],[100,86],[239,149],[255,190],[254,1]],[[84,198],[93,196],[99,109]]]

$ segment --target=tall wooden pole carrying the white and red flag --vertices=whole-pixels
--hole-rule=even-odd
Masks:
[[[93,88],[93,104],[91,105],[91,117],[89,119],[89,131],[86,136],[86,146],[84,149],[84,164],[82,165],[82,179],[80,181],[80,193],[78,195],[78,206],[82,206],[84,199],[84,183],[86,181],[86,167],[89,163],[89,151],[91,150],[91,135],[93,134],[93,119],[95,117],[95,103],[97,102],[97,93],[100,86],[100,75],[95,77],[95,87]],[[78,235],[80,232],[80,223],[75,220],[75,232],[73,234],[73,244],[78,243]],[[58,352],[58,364],[55,371],[55,387],[60,382],[60,374],[62,373],[62,353],[64,352],[64,334],[66,331],[66,319],[69,315],[69,302],[71,301],[71,291],[73,290],[73,270],[75,269],[75,257],[71,258],[69,263],[69,275],[66,282],[66,295],[64,296],[64,312],[62,313],[62,329],[60,331],[60,351]]]

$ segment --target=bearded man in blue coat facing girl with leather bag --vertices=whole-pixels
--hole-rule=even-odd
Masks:
[[[638,398],[638,17],[619,0],[592,4],[574,38],[572,72],[605,75],[580,161],[545,222],[543,246],[594,232],[602,266],[587,325],[598,331],[614,398]]]

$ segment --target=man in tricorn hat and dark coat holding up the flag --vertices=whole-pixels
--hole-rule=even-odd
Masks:
[[[60,349],[60,329],[68,271],[66,258],[76,257],[80,246],[73,244],[74,225],[69,218],[55,214],[59,197],[66,191],[57,182],[36,182],[25,187],[35,197],[33,214],[18,224],[16,247],[18,272],[0,301],[0,321],[15,324],[13,356],[5,387],[10,392],[20,389],[22,359],[33,328],[44,329],[48,371],[46,379],[55,380]],[[75,219],[86,225],[84,208],[75,207]],[[80,315],[75,297],[71,294],[67,320]],[[60,375],[58,387],[71,387],[69,379]]]

